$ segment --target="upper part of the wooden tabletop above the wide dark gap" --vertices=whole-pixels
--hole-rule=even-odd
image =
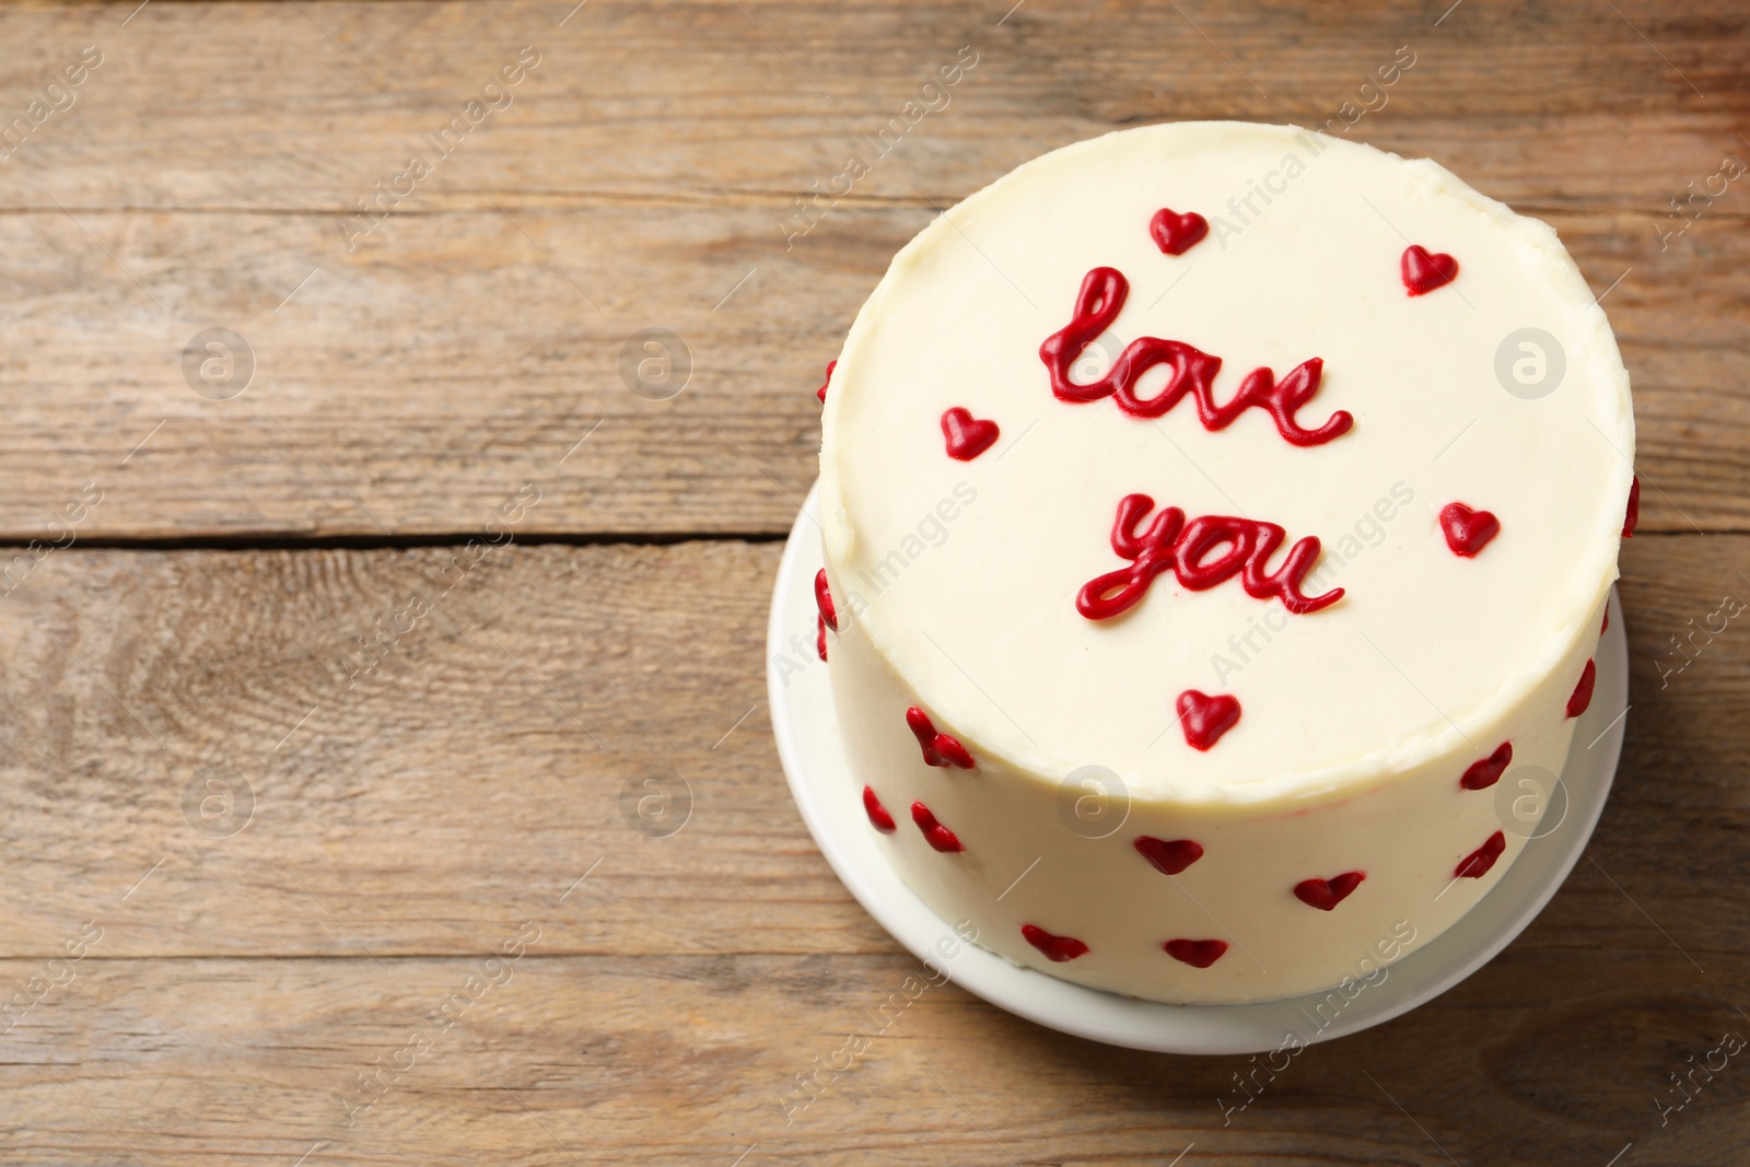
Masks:
[[[1554,222],[1608,290],[1645,523],[1750,528],[1750,196],[1729,185],[1661,238],[1687,222],[1670,206],[1687,184],[1750,150],[1750,16],[1466,3],[1435,28],[1384,3],[1332,19],[1034,0],[1001,24],[924,3],[595,3],[558,24],[567,9],[0,16],[30,45],[0,63],[0,110],[80,45],[105,54],[0,161],[0,537],[38,537],[86,481],[105,488],[94,539],[472,532],[530,479],[550,499],[534,530],[782,532],[814,478],[810,390],[938,208],[1113,128],[1325,122],[1404,44],[1416,65],[1349,136]],[[872,152],[864,135],[968,44],[952,101],[788,243],[794,199]],[[525,45],[541,63],[513,103],[348,238],[357,201],[436,157],[425,135]],[[182,369],[212,327],[256,359],[229,401]],[[688,346],[670,401],[621,373],[646,327]]]

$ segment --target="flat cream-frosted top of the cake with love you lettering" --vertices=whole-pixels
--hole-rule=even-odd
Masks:
[[[1251,801],[1484,740],[1598,619],[1633,457],[1549,226],[1430,161],[1181,122],[900,252],[831,378],[821,523],[840,612],[975,754]]]

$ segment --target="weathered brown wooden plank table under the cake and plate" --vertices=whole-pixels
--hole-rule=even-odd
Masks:
[[[1750,1162],[1750,1052],[1671,1078],[1750,1036],[1750,633],[1673,647],[1750,597],[1750,10],[1449,2],[0,12],[0,1162]],[[1634,378],[1586,859],[1242,1111],[1248,1059],[948,985],[786,1116],[919,971],[765,707],[858,304],[1046,149],[1368,103],[1561,231]]]

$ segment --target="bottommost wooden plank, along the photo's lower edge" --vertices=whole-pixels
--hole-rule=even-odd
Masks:
[[[1680,1097],[1685,1055],[1745,1031],[1741,954],[1685,980],[1656,950],[1521,945],[1382,1029],[1253,1062],[1064,1038],[900,954],[553,957],[553,913],[525,919],[483,920],[457,959],[88,957],[4,1039],[0,1150],[79,1167],[1600,1167],[1626,1143],[1654,1165],[1743,1146],[1743,1074],[1698,1076],[1662,1125],[1654,1104]],[[523,955],[488,964],[504,943]],[[0,962],[0,983],[37,975]]]

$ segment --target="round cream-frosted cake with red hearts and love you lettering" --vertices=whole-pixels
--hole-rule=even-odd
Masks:
[[[931,222],[822,392],[821,653],[948,926],[1284,997],[1528,845],[1633,527],[1628,373],[1545,224],[1290,126],[1113,133]]]

